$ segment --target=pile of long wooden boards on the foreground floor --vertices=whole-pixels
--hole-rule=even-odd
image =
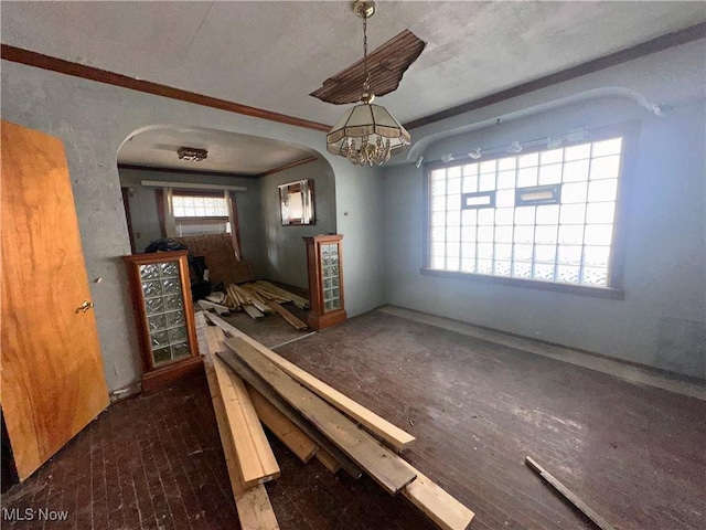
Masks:
[[[216,326],[206,326],[206,318]],[[318,458],[331,473],[366,474],[439,528],[462,530],[471,522],[471,510],[399,456],[414,436],[217,316],[200,312],[196,322],[243,529],[279,528],[263,483],[280,471],[263,424],[303,463]]]

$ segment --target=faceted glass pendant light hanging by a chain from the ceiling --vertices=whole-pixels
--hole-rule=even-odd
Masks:
[[[375,2],[357,0],[353,12],[363,19],[363,62],[365,83],[361,104],[347,109],[327,135],[329,152],[347,158],[357,166],[382,166],[395,152],[409,145],[409,132],[385,107],[373,105],[367,70],[367,19],[375,14]]]

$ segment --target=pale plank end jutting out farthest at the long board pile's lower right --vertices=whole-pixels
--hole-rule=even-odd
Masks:
[[[419,473],[411,464],[406,466],[417,475],[417,479],[402,490],[413,505],[419,508],[443,530],[464,530],[475,513],[441,489],[429,477]]]

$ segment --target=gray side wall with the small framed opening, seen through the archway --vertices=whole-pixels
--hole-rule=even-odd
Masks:
[[[315,224],[282,226],[279,186],[297,180],[313,180]],[[257,273],[266,278],[309,288],[304,236],[335,233],[335,186],[331,166],[317,160],[259,179],[263,212],[263,267]]]

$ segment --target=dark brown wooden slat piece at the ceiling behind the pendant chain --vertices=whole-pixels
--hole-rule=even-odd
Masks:
[[[411,31],[405,30],[393,36],[382,46],[367,55],[371,92],[384,96],[399,86],[407,68],[421,54],[426,43]],[[365,83],[365,60],[349,66],[323,82],[323,86],[311,94],[322,102],[343,105],[357,103]]]

